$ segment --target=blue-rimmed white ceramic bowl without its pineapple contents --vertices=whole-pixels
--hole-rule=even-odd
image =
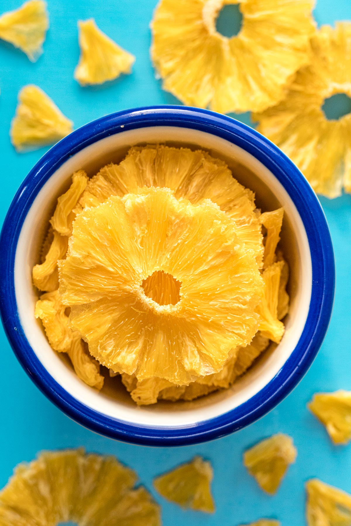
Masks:
[[[47,221],[73,171],[89,175],[120,161],[132,145],[166,143],[204,148],[224,159],[256,192],[257,206],[283,206],[282,248],[290,266],[286,332],[228,390],[192,402],[136,407],[116,379],[97,392],[77,378],[65,356],[49,346],[34,317],[31,269]],[[0,309],[7,337],[23,368],[62,411],[105,436],[171,446],[236,431],[282,400],[318,352],[332,313],[335,268],[323,210],[306,179],[270,141],[236,120],[195,108],[126,110],[83,126],[49,150],[28,174],[8,210],[0,240]]]

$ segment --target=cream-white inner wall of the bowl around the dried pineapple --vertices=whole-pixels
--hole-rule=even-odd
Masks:
[[[137,407],[119,379],[106,377],[98,392],[75,375],[65,355],[49,346],[40,321],[34,317],[37,294],[32,286],[32,268],[38,262],[47,221],[56,199],[69,186],[72,173],[83,168],[94,175],[107,163],[123,159],[130,146],[166,143],[207,149],[224,159],[240,183],[256,192],[256,204],[263,211],[284,207],[281,246],[290,266],[291,306],[284,320],[285,335],[278,346],[271,345],[254,366],[228,390],[193,402],[158,402]],[[273,174],[252,155],[229,141],[203,131],[174,126],[155,126],[121,131],[79,151],[49,178],[34,200],[19,236],[15,257],[15,294],[23,330],[36,356],[49,374],[74,398],[106,416],[136,426],[167,428],[192,426],[220,416],[249,400],[267,385],[294,350],[303,331],[312,291],[312,262],[303,222],[286,190]]]

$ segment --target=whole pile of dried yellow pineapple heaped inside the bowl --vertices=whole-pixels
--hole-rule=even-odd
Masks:
[[[35,315],[97,389],[101,365],[139,404],[227,388],[284,333],[282,220],[205,151],[133,147],[58,198]]]

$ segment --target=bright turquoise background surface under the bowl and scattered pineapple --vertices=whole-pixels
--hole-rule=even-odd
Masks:
[[[18,90],[34,83],[53,98],[75,128],[118,110],[154,104],[177,104],[155,80],[149,59],[149,22],[156,0],[48,0],[50,29],[44,54],[35,64],[0,42],[0,220],[19,184],[46,149],[17,154],[9,141]],[[19,6],[1,0],[0,11]],[[73,78],[78,61],[77,20],[94,17],[107,35],[132,52],[132,75],[102,87],[80,87]],[[350,0],[318,0],[318,24],[351,19]],[[238,116],[248,122],[248,116]],[[0,487],[18,462],[32,460],[42,449],[84,446],[88,451],[115,454],[135,468],[141,482],[152,490],[153,478],[191,459],[208,458],[214,468],[213,493],[217,511],[205,515],[183,511],[156,496],[163,507],[165,526],[197,524],[236,526],[259,518],[277,518],[283,526],[305,524],[304,483],[311,477],[351,493],[351,445],[335,447],[324,427],[306,409],[316,391],[351,389],[351,196],[333,201],[321,198],[335,248],[336,300],[333,318],[320,352],[297,388],[263,419],[232,436],[199,446],[146,448],[97,436],[56,409],[19,366],[2,329],[0,333]],[[278,493],[268,497],[249,477],[242,464],[243,451],[276,432],[293,437],[298,450]]]

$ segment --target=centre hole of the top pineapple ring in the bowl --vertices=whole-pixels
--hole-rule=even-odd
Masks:
[[[155,270],[142,282],[145,296],[153,299],[158,305],[176,305],[180,300],[181,286],[180,281],[163,270]]]

